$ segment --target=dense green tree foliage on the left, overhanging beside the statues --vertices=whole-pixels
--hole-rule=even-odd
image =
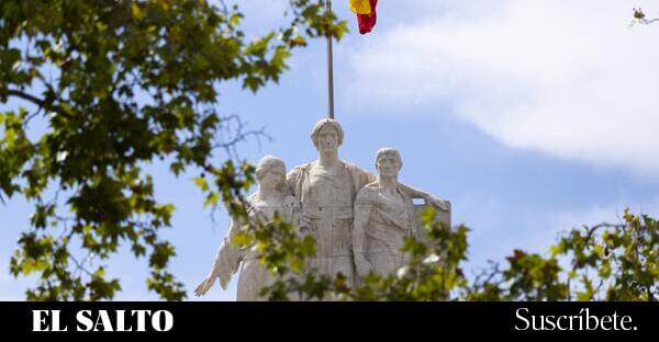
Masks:
[[[244,137],[220,130],[230,118],[220,114],[217,86],[237,80],[256,92],[279,80],[308,37],[346,32],[321,1],[291,0],[289,25],[247,42],[243,13],[220,4],[0,3],[0,102],[37,109],[0,113],[0,200],[20,195],[34,204],[10,267],[15,276],[38,275],[27,299],[112,298],[119,280],[108,280],[102,265],[90,270],[90,261],[104,262],[123,244],[148,256],[149,289],[185,297],[167,271],[175,248],[159,233],[175,208],[156,201],[144,166],[167,161],[176,175],[201,170],[196,183],[209,192],[206,203],[230,202],[254,178],[231,156],[211,163]],[[30,138],[34,119],[47,128]],[[87,255],[78,259],[76,250]]]

